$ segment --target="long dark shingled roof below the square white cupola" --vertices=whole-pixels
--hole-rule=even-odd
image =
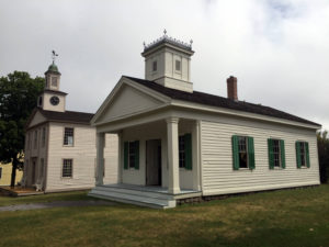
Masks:
[[[290,121],[295,121],[295,122],[299,122],[299,123],[321,126],[318,123],[302,119],[296,115],[292,115],[290,113],[286,113],[286,112],[283,112],[283,111],[280,111],[280,110],[276,110],[276,109],[273,109],[270,106],[264,106],[261,104],[253,104],[253,103],[249,103],[249,102],[245,102],[245,101],[234,101],[231,99],[227,99],[224,97],[218,97],[218,96],[208,94],[208,93],[198,92],[198,91],[185,92],[185,91],[163,87],[154,81],[138,79],[138,78],[134,78],[134,77],[127,77],[127,76],[124,76],[124,77],[138,83],[138,85],[141,85],[144,87],[152,89],[152,90],[155,90],[159,93],[162,93],[163,96],[167,96],[174,100],[182,100],[182,101],[200,103],[200,104],[217,106],[217,108],[226,108],[226,109],[237,110],[237,111],[241,111],[241,112],[256,113],[256,114],[273,116],[273,117],[277,117],[277,119],[290,120]]]

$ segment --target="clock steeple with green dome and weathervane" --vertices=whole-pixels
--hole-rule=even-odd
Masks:
[[[45,72],[45,89],[37,99],[37,106],[47,111],[65,112],[67,93],[59,90],[60,72],[55,64],[57,56],[53,50],[53,64]]]

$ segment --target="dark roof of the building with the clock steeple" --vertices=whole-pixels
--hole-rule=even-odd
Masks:
[[[65,111],[65,112],[54,112],[46,111],[41,108],[35,108],[33,113],[31,114],[31,119],[26,123],[26,127],[29,128],[29,124],[33,120],[33,116],[36,112],[39,112],[44,117],[46,117],[46,122],[63,122],[63,123],[77,123],[77,124],[90,124],[91,119],[93,117],[93,113],[86,112],[75,112],[75,111]]]

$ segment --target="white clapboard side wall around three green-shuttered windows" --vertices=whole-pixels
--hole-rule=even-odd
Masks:
[[[256,169],[232,169],[231,136],[252,136]],[[315,131],[281,127],[237,119],[202,121],[202,188],[206,194],[238,193],[256,190],[319,184],[319,166]],[[285,142],[285,169],[269,169],[268,138]],[[297,169],[295,142],[309,143],[310,168]]]

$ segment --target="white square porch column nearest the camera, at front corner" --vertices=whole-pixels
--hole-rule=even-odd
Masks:
[[[175,194],[180,192],[179,173],[179,136],[178,117],[169,117],[167,121],[167,145],[168,145],[168,191]]]

